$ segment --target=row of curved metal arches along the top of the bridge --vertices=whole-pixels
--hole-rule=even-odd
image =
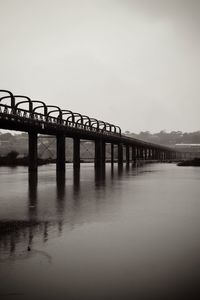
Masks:
[[[38,120],[41,122],[56,123],[66,127],[75,127],[86,131],[93,131],[99,134],[111,134],[121,136],[119,126],[90,118],[71,110],[62,110],[55,105],[46,105],[40,100],[32,100],[23,95],[14,95],[8,90],[0,90],[0,113],[11,114],[24,119]],[[18,101],[18,98],[20,101]],[[9,104],[2,103],[2,100],[9,100]],[[28,105],[28,109],[22,105]]]

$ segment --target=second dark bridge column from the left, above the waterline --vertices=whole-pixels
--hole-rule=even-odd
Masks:
[[[56,170],[65,171],[65,135],[64,134],[57,135],[56,142],[57,142]]]

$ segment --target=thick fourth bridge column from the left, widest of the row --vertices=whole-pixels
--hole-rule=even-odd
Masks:
[[[105,170],[106,162],[106,144],[102,139],[95,141],[95,168]]]

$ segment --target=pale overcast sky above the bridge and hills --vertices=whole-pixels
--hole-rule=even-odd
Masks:
[[[0,89],[123,131],[200,130],[199,0],[0,0]]]

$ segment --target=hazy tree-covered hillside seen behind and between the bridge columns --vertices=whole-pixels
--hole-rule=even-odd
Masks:
[[[150,133],[149,131],[140,132],[139,134],[124,133],[127,136],[140,139],[143,141],[174,146],[175,144],[200,144],[200,131],[196,132],[181,132],[172,131],[166,132],[164,130],[158,133]],[[72,159],[73,156],[73,142],[72,139],[66,139],[66,156]],[[0,156],[6,156],[10,151],[17,151],[22,156],[28,154],[28,135],[27,133],[11,134],[10,132],[0,132]],[[107,147],[109,155],[110,147]],[[55,137],[38,138],[38,154],[40,158],[56,158],[56,139]],[[85,141],[81,143],[81,157],[88,158],[94,157],[94,144],[93,142]]]

